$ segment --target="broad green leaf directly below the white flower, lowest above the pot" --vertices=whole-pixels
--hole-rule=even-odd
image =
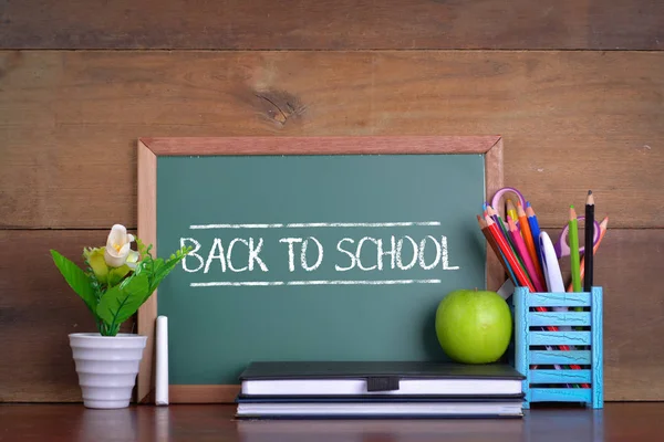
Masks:
[[[104,293],[96,313],[108,327],[117,326],[136,313],[147,298],[148,288],[147,275],[133,274]]]

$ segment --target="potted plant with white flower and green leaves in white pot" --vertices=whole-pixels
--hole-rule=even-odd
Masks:
[[[131,250],[134,241],[137,251]],[[87,408],[128,407],[147,337],[118,333],[120,327],[190,250],[181,248],[164,260],[153,257],[151,249],[115,224],[105,246],[83,249],[85,269],[51,250],[55,266],[97,326],[97,333],[69,335]]]

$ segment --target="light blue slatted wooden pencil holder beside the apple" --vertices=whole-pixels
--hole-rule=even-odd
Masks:
[[[580,293],[531,293],[527,287],[516,287],[509,301],[515,317],[510,359],[526,376],[523,408],[532,402],[580,402],[603,408],[602,287]],[[547,312],[531,307],[547,307]],[[567,311],[554,311],[560,307]],[[551,332],[548,326],[558,330]],[[560,369],[552,367],[556,365]],[[581,369],[572,369],[572,365]]]

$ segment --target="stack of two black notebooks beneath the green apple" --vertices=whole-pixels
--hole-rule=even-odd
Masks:
[[[252,362],[237,418],[521,417],[523,376],[509,365]]]

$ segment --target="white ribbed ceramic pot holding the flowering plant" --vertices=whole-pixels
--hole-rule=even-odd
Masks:
[[[125,408],[132,400],[146,336],[72,333],[70,346],[83,403],[87,408]]]

